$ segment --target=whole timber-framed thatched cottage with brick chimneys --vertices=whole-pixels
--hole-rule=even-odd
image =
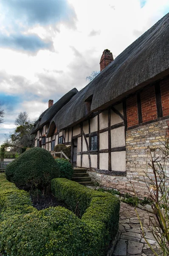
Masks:
[[[149,148],[159,156],[169,131],[169,14],[113,60],[81,91],[65,94],[34,124],[35,146],[71,145],[74,166],[102,186],[144,196]],[[168,184],[167,184],[168,185]]]

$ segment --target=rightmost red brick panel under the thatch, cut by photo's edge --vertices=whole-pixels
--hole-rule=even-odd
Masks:
[[[169,77],[160,82],[163,116],[169,115]]]

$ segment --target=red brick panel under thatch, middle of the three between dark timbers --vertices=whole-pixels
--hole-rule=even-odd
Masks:
[[[148,87],[141,92],[141,111],[143,122],[157,118],[155,87]]]

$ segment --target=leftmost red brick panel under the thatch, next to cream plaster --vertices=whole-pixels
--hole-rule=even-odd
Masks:
[[[127,126],[138,125],[137,96],[133,95],[126,100]]]

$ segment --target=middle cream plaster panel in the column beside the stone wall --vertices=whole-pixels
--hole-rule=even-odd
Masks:
[[[124,126],[111,130],[111,148],[125,146]]]

